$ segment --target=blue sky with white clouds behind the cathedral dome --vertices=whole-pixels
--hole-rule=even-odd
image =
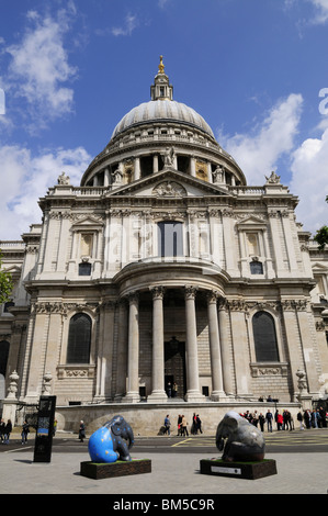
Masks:
[[[328,0],[0,0],[0,240],[76,187],[163,56],[249,186],[274,170],[297,222],[328,224]]]

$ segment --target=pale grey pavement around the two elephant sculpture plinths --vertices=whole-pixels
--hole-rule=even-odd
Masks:
[[[145,453],[134,453],[132,450],[132,457],[151,460],[151,473],[93,480],[80,474],[80,463],[90,460],[86,448],[81,452],[52,453],[50,462],[43,463],[33,461],[34,446],[25,446],[24,451],[18,446],[1,452],[1,494],[104,494],[110,495],[105,500],[106,507],[111,508],[111,503],[114,504],[120,495],[125,495],[120,498],[122,501],[134,497],[154,500],[151,495],[162,495],[156,500],[170,496],[181,498],[185,495],[199,501],[215,497],[216,503],[219,503],[220,496],[227,494],[328,493],[327,452],[268,453],[265,459],[276,461],[278,474],[246,480],[201,474],[200,460],[219,457],[219,453],[148,453],[147,450]],[[156,508],[168,507],[156,505]]]

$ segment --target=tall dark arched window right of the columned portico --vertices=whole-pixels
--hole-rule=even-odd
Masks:
[[[256,359],[258,362],[279,361],[274,321],[268,312],[257,312],[252,318]]]

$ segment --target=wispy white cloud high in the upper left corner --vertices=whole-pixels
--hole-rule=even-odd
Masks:
[[[12,58],[7,89],[26,100],[30,115],[42,125],[73,109],[73,90],[66,83],[76,78],[77,69],[69,64],[64,44],[71,12],[60,10],[55,19],[29,11],[26,18],[32,27],[26,29],[18,44],[5,48]]]

